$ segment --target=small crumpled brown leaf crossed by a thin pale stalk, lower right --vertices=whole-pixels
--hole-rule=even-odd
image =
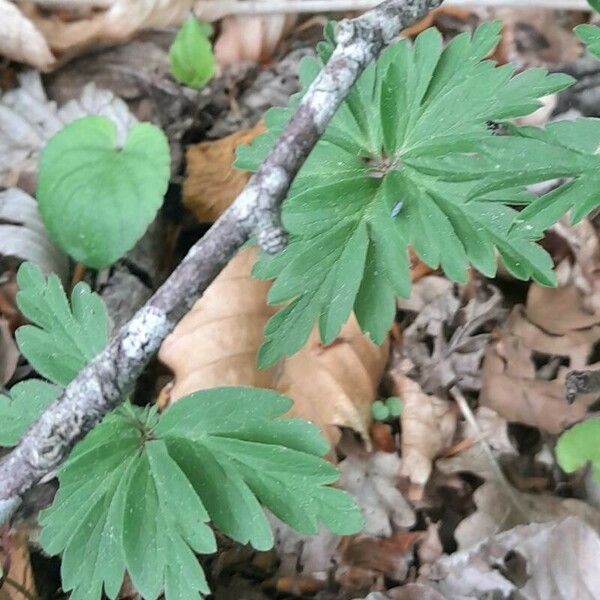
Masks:
[[[498,413],[486,406],[480,406],[475,412],[478,431],[473,431],[468,423],[461,424],[460,439],[471,439],[472,444],[455,456],[440,458],[436,467],[442,473],[474,473],[488,481],[496,477],[495,470],[490,465],[490,458],[483,450],[480,435],[485,440],[495,458],[516,456],[518,454],[508,435],[508,422]]]

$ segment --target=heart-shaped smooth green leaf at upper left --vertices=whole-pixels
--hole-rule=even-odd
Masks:
[[[169,182],[162,131],[137,123],[123,147],[105,117],[85,117],[59,131],[40,159],[37,198],[52,239],[75,260],[103,268],[140,239]]]

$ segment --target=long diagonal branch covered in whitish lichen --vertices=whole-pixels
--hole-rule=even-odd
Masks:
[[[0,463],[0,522],[12,514],[25,491],[55,469],[73,444],[121,402],[179,318],[253,233],[267,249],[280,244],[281,202],[360,73],[403,28],[441,3],[386,0],[338,24],[329,62],[235,202]]]

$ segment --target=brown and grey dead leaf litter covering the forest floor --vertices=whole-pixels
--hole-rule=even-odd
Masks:
[[[149,25],[174,23],[189,8],[176,2],[173,11],[165,12],[150,2],[143,14],[142,3],[112,4],[89,22],[37,9],[22,16],[31,19],[29,24],[43,34],[41,41],[48,40],[48,48],[63,61],[98,42],[123,41]],[[118,14],[129,15],[130,22],[121,27]],[[435,21],[450,36],[482,18],[474,15],[441,11]],[[504,57],[543,66],[554,64],[556,57],[575,60],[575,46],[553,15],[531,22],[536,31],[523,26],[531,24],[525,15],[505,11],[501,16],[507,23],[500,47]],[[33,259],[43,270],[60,268],[64,257],[45,245],[35,203],[26,192],[35,189],[37,154],[45,140],[85,114],[110,113],[123,131],[136,118],[157,120],[161,114],[180,157],[187,146],[184,201],[198,221],[212,222],[245,180],[232,166],[235,146],[254,135],[247,130],[264,108],[285,104],[297,90],[297,62],[307,53],[289,33],[293,18],[283,25],[281,19],[263,19],[265,27],[252,32],[244,19],[224,24],[217,55],[232,70],[223,70],[205,93],[180,93],[169,83],[158,38],[104,50],[98,60],[84,55],[66,67],[43,52],[41,58],[23,57],[46,69],[45,56],[48,65],[59,68],[46,80],[49,93],[39,75],[22,71],[17,87],[0,100],[0,132],[6,134],[0,135],[0,179],[2,186],[13,186],[2,194],[21,203],[17,221],[14,209],[5,209],[8,216],[1,212],[0,202],[0,243],[12,244],[10,251],[0,252]],[[271,60],[282,35],[294,47],[287,59],[278,57],[261,70],[238,65],[243,57]],[[532,43],[524,46],[523,40]],[[550,48],[543,52],[546,43]],[[5,52],[1,45],[0,52]],[[162,69],[158,75],[144,70],[139,61],[144,53],[156,57]],[[98,70],[88,71],[92,64]],[[115,75],[121,64],[129,64],[141,83]],[[86,85],[90,72],[93,82]],[[192,115],[194,102],[201,114]],[[557,106],[561,99],[552,97],[537,118],[543,121]],[[175,163],[178,177],[181,161]],[[230,177],[223,179],[224,173]],[[27,220],[22,218],[25,206],[31,206]],[[18,246],[19,235],[1,235],[8,226],[34,241]],[[283,391],[295,400],[293,413],[309,418],[328,436],[328,456],[342,472],[340,486],[357,498],[365,527],[356,536],[327,530],[300,536],[273,518],[273,553],[222,544],[210,571],[218,598],[597,597],[598,509],[585,485],[586,473],[566,475],[552,454],[556,435],[597,409],[597,398],[582,397],[569,405],[564,395],[567,372],[595,368],[600,358],[597,226],[593,218],[577,226],[561,223],[552,236],[558,240],[558,249],[552,250],[558,289],[532,284],[515,301],[510,278],[490,282],[471,274],[459,286],[437,275],[426,277],[415,283],[409,300],[398,303],[391,342],[372,344],[351,318],[332,344],[323,346],[313,334],[298,355],[264,370],[256,367],[255,357],[263,326],[273,314],[266,303],[269,285],[250,276],[253,250],[232,261],[160,351],[174,375],[162,405],[195,389],[226,384]],[[413,278],[418,278],[414,272]],[[14,315],[5,318],[16,322]],[[0,320],[2,385],[18,378],[13,329]],[[171,373],[162,377],[171,378]],[[475,428],[459,410],[453,389],[464,395]],[[374,424],[373,401],[391,395],[402,400],[402,415]],[[535,493],[528,487],[534,479]],[[228,552],[237,557],[229,567],[224,566]]]

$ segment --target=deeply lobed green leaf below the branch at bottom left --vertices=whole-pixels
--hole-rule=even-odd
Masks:
[[[76,600],[118,594],[127,571],[146,599],[209,592],[196,553],[216,549],[207,522],[255,548],[273,544],[261,505],[305,533],[319,522],[345,534],[362,526],[352,498],[328,487],[337,470],[320,458],[316,427],[280,419],[290,401],[266,390],[191,394],[160,418],[125,405],[73,451],[41,543],[63,554]],[[85,560],[82,561],[82,557]]]

